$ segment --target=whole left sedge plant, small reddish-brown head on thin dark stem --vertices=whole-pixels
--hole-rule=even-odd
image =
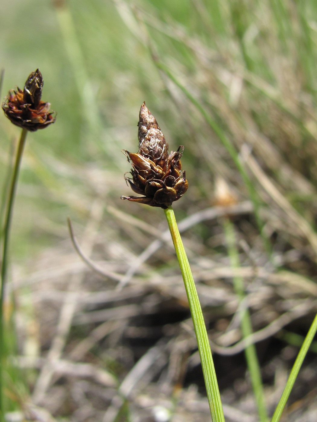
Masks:
[[[14,199],[19,178],[19,169],[22,161],[23,150],[27,138],[27,132],[35,132],[44,129],[49,124],[55,122],[56,116],[50,111],[50,103],[41,100],[43,89],[43,77],[36,69],[28,76],[24,88],[11,89],[2,104],[5,115],[10,121],[22,128],[18,148],[16,150],[14,168],[8,198],[5,204],[5,217],[3,228],[1,228],[2,238],[2,260],[1,260],[1,289],[0,289],[0,421],[4,421],[4,396],[3,396],[3,368],[6,366],[5,347],[5,318],[4,318],[4,298],[5,285],[8,278],[8,251],[10,240],[11,221],[13,216]]]

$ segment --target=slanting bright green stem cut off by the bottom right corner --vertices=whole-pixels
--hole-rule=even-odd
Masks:
[[[301,346],[301,349],[300,349],[300,351],[297,355],[295,363],[292,367],[292,371],[290,372],[290,376],[287,380],[286,386],[285,386],[284,391],[281,395],[279,403],[276,406],[276,409],[275,409],[275,412],[274,412],[273,417],[271,419],[271,422],[278,422],[279,421],[281,414],[282,414],[282,411],[283,411],[283,409],[286,405],[287,399],[289,398],[290,392],[291,392],[293,385],[295,383],[295,379],[298,376],[298,372],[301,369],[301,365],[303,364],[303,360],[306,356],[306,353],[309,349],[309,346],[311,345],[311,343],[314,339],[316,332],[317,332],[317,314],[314,318],[314,321],[312,322],[312,325],[309,328],[309,331],[308,331],[308,333],[305,337],[305,340],[304,340],[304,342]]]

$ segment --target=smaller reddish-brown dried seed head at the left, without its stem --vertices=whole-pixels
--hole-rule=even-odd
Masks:
[[[42,88],[42,74],[36,69],[27,78],[23,91],[18,87],[9,91],[2,108],[13,124],[35,132],[55,122],[50,103],[41,101]]]

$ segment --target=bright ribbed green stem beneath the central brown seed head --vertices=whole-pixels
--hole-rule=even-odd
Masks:
[[[174,211],[172,210],[172,207],[169,207],[164,210],[164,212],[167,218],[169,231],[172,235],[176,256],[178,258],[180,271],[183,276],[187,298],[189,301],[189,308],[191,310],[191,317],[194,323],[200,360],[202,362],[202,372],[205,379],[211,417],[213,422],[224,422],[224,412],[222,409],[215,367],[213,365],[213,357],[211,355],[207,330],[204,317],[202,315],[202,308],[199,303],[195,282],[177,227]]]

